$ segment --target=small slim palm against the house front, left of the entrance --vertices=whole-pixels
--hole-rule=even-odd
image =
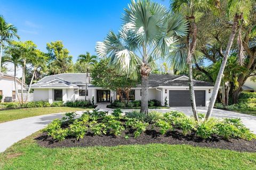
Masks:
[[[80,64],[83,64],[85,66],[85,72],[86,72],[86,80],[85,80],[85,100],[86,100],[86,96],[87,96],[87,78],[88,78],[88,72],[89,69],[92,65],[94,65],[97,60],[96,60],[97,56],[95,55],[90,55],[89,52],[86,52],[86,54],[81,54],[78,56],[77,62]]]

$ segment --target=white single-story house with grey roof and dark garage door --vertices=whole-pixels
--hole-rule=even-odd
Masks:
[[[50,75],[32,85],[34,100],[53,101],[84,100],[94,103],[110,103],[111,98],[119,99],[116,91],[102,89],[91,84],[91,78],[87,79],[87,92],[85,92],[86,74],[62,73]],[[208,106],[210,103],[213,85],[204,81],[194,81],[196,105]],[[150,74],[149,75],[148,100],[156,99],[164,105],[165,98],[168,106],[190,106],[188,77],[186,75]],[[125,95],[123,96],[125,99]],[[130,91],[130,100],[141,100],[141,85],[138,84]]]

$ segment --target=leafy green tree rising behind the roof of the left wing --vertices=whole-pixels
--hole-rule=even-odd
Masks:
[[[73,72],[72,56],[69,55],[67,48],[64,48],[62,41],[55,41],[46,44],[48,55],[49,75]]]

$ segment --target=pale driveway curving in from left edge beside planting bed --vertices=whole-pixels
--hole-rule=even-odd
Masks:
[[[79,116],[83,112],[85,111],[77,111],[76,113]],[[64,114],[65,113],[55,113],[0,123],[0,152],[5,151],[15,142],[45,128],[45,126],[55,118],[61,118]]]

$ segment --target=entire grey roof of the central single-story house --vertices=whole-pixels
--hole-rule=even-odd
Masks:
[[[182,79],[181,79],[182,78]],[[150,74],[148,80],[149,87],[158,86],[188,86],[189,81],[184,80],[188,78],[186,75],[173,75],[173,74]],[[31,88],[79,88],[79,84],[86,83],[85,73],[62,73],[56,75],[46,76],[33,84]],[[213,86],[212,83],[194,80],[194,86]],[[88,83],[88,87],[95,87],[93,84]],[[139,84],[137,87],[141,87]]]

